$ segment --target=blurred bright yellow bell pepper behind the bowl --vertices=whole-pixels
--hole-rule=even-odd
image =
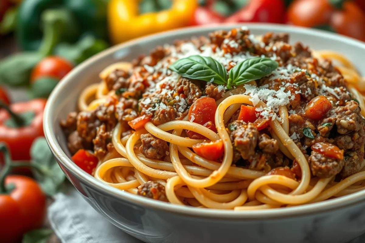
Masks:
[[[108,26],[112,43],[188,26],[197,8],[197,0],[173,0],[170,9],[139,14],[140,0],[111,0]]]

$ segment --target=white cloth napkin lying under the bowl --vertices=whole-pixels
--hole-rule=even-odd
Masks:
[[[142,243],[97,213],[74,188],[58,193],[48,218],[62,243]],[[349,243],[364,243],[365,235]]]

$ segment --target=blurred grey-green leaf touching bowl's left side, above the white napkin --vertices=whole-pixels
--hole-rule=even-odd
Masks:
[[[37,167],[37,170],[34,170],[35,179],[48,196],[55,195],[65,181],[65,174],[53,157],[44,137],[34,140],[30,155],[31,164]]]

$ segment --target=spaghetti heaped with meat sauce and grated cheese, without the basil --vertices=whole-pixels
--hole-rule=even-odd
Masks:
[[[285,34],[255,39],[243,27],[199,40],[159,47],[133,65],[112,64],[81,93],[81,112],[61,125],[72,153],[93,146],[97,180],[173,204],[234,210],[315,203],[365,188],[365,79],[347,58],[291,46]],[[213,78],[202,93],[200,81],[168,69],[191,55],[227,70],[262,55],[279,66],[232,90]],[[203,100],[204,109],[197,105]]]

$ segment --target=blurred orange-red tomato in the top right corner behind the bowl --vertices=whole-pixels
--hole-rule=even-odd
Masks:
[[[365,41],[365,13],[353,1],[345,1],[342,9],[336,10],[330,26],[341,35]]]

